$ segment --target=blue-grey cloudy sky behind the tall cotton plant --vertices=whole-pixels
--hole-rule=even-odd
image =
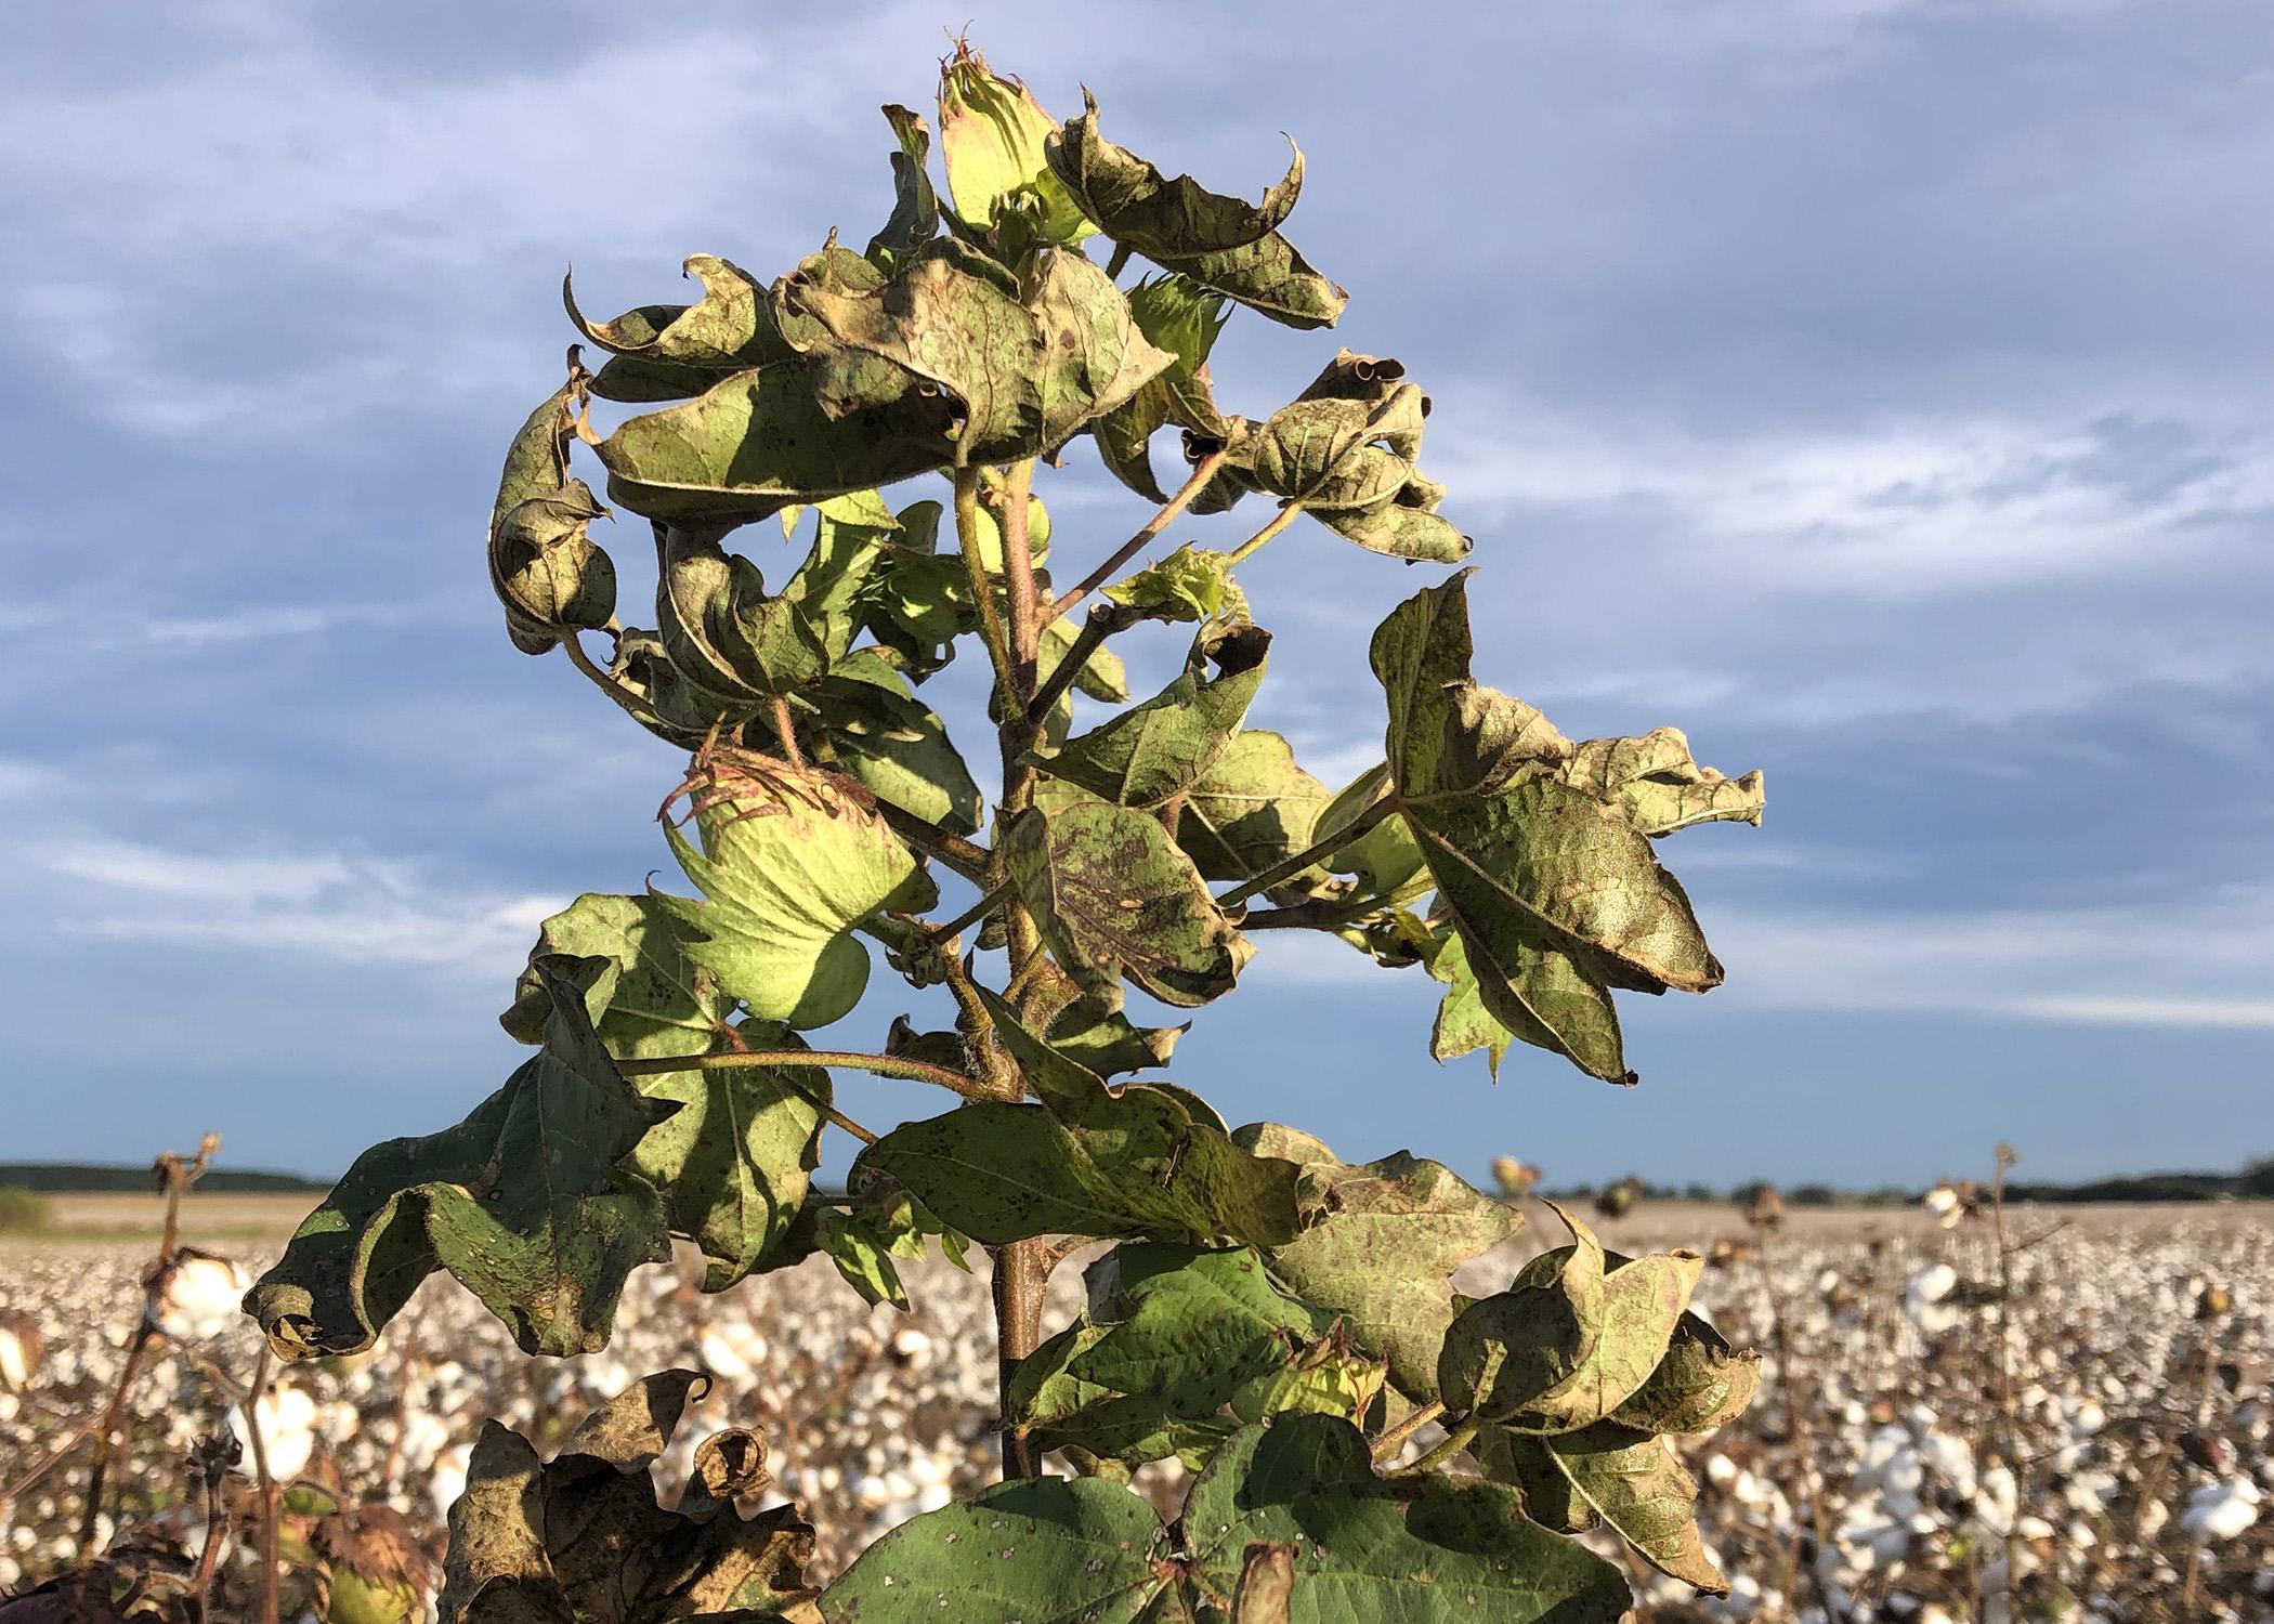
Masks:
[[[559,275],[614,312],[691,298],[689,252],[775,275],[866,241],[875,109],[928,105],[969,9],[11,27],[0,1160],[216,1128],[230,1165],[330,1176],[518,1064],[496,1012],[534,923],[669,869],[680,767],[514,653],[487,589],[505,441],[573,337]],[[1264,416],[1337,341],[1403,359],[1476,537],[1478,678],[1769,785],[1760,830],[1662,846],[1728,983],[1621,999],[1640,1087],[1528,1049],[1499,1083],[1439,1067],[1433,983],[1298,933],[1194,1012],[1178,1080],[1346,1160],[1508,1151],[1551,1183],[2274,1153],[2260,0],[1071,16],[987,5],[971,36],[1169,173],[1255,196],[1283,132],[1310,159],[1287,230],[1348,312],[1235,318],[1219,400]],[[1080,446],[1044,496],[1060,560],[1144,519]],[[641,530],[600,539],[637,612]],[[1367,635],[1437,575],[1317,525],[1258,555],[1251,726],[1330,782],[1378,760]],[[1139,685],[1180,655],[1123,641]],[[828,1037],[907,1008],[880,964]]]

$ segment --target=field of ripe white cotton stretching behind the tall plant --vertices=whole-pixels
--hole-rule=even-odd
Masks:
[[[189,1251],[148,1294],[139,1335],[155,1231],[118,1226],[152,1205],[66,1210],[111,1226],[93,1237],[66,1224],[0,1240],[5,1592],[102,1551],[114,1604],[141,1588],[164,1606],[202,1585],[211,1617],[255,1617],[262,1540],[207,1538],[216,1513],[250,1528],[252,1381],[289,1508],[275,1524],[287,1619],[430,1615],[443,1513],[482,1422],[550,1449],[587,1408],[669,1367],[714,1385],[657,1476],[682,1481],[707,1431],[760,1431],[773,1472],[760,1499],[805,1508],[819,1574],[991,1481],[987,1285],[946,1262],[910,1269],[912,1312],[871,1308],[821,1260],[723,1296],[700,1296],[698,1274],[650,1269],[614,1344],[566,1362],[523,1358],[471,1296],[430,1283],[371,1356],[273,1369],[236,1299],[296,1203],[193,1196]],[[1642,1203],[1601,1219],[1612,1246],[1708,1253],[1699,1306],[1762,1349],[1767,1376],[1740,1422],[1685,1442],[1731,1594],[1699,1597],[1621,1558],[1635,1617],[2274,1622],[2267,1208],[2019,1208],[2003,1249],[1987,1215],[1942,1217],[1756,1226],[1735,1208]],[[1535,1210],[1464,1285],[1503,1285],[1553,1240]],[[1069,1315],[1078,1269],[1053,1290]],[[121,1449],[89,1519],[91,1440],[136,1342]],[[1157,1472],[1135,1488],[1167,1494]],[[0,1617],[118,1615],[59,1606],[23,1599]]]

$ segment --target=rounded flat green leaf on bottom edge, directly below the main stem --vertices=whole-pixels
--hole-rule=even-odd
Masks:
[[[1164,1585],[1160,1515],[1105,1478],[1021,1478],[926,1513],[821,1592],[828,1624],[1114,1624]]]

